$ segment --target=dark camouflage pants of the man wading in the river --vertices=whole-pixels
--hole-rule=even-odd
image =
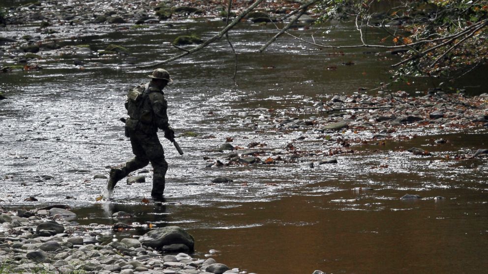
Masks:
[[[133,132],[129,135],[132,153],[135,157],[125,163],[122,170],[125,174],[143,168],[151,162],[154,174],[152,177],[152,195],[163,194],[164,177],[168,170],[168,163],[164,160],[164,151],[157,134],[147,135],[142,132]]]

